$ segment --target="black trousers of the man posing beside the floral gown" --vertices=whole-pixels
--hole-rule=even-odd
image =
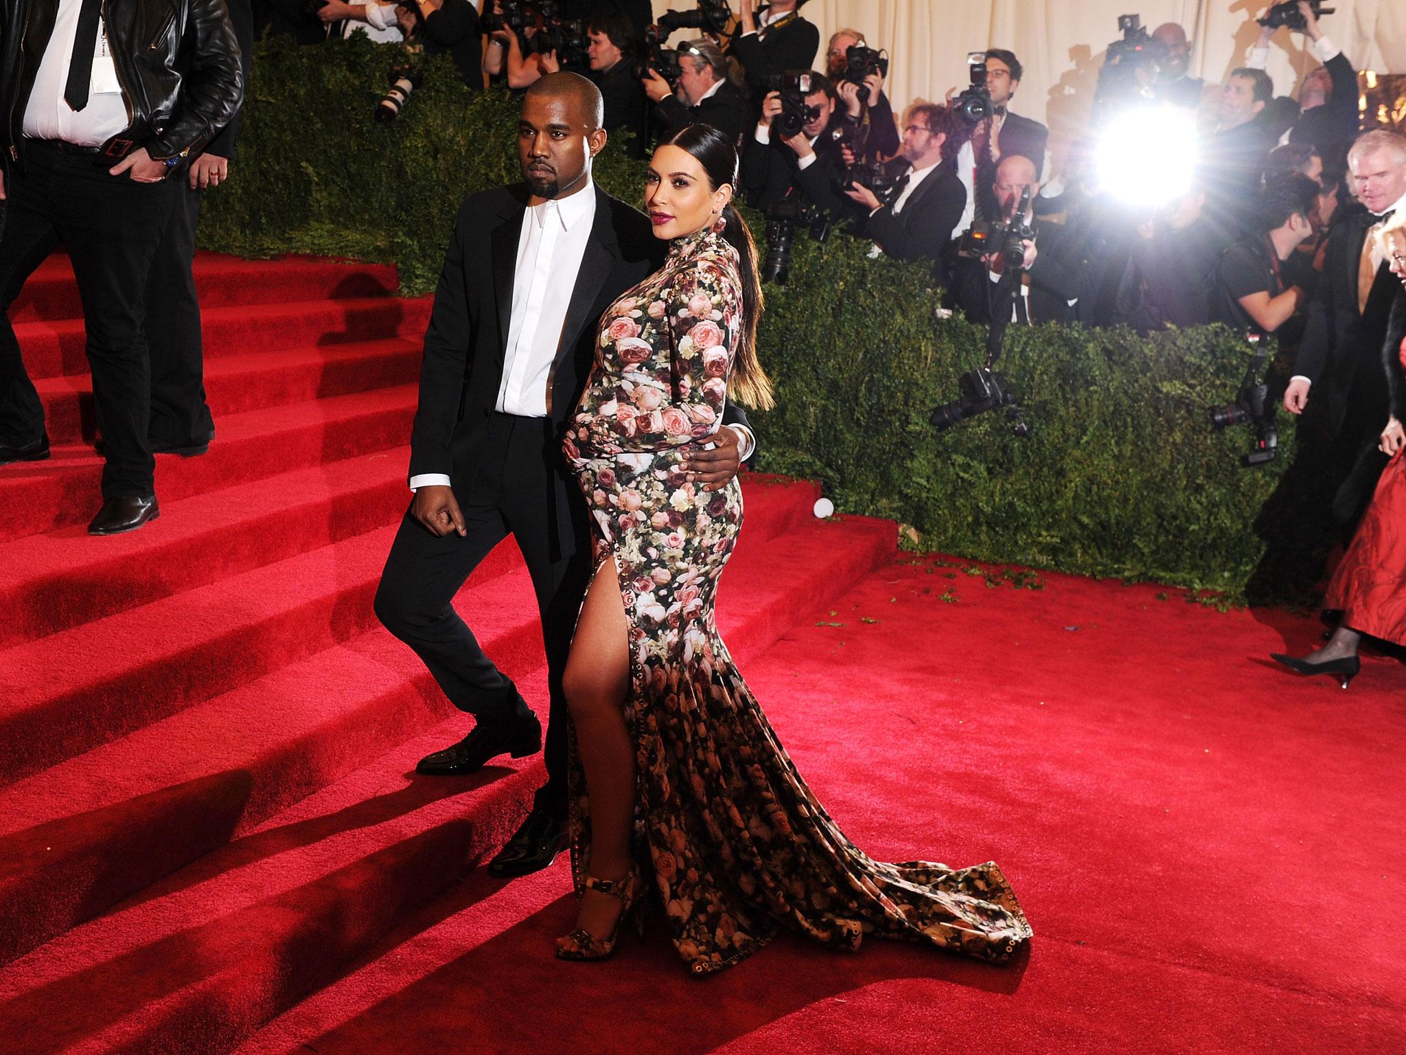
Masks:
[[[517,691],[484,654],[453,599],[488,551],[513,536],[537,595],[551,698],[547,785],[537,792],[537,806],[565,819],[567,699],[561,675],[591,577],[591,550],[583,530],[579,537],[553,537],[551,495],[561,471],[554,433],[550,419],[489,416],[470,477],[454,482],[468,535],[436,537],[406,513],[381,573],[375,613],[425,661],[454,706],[486,726],[512,720]]]

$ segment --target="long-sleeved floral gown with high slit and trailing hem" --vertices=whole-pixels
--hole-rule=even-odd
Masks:
[[[652,864],[673,944],[703,975],[779,928],[853,950],[865,933],[1005,961],[1031,935],[995,864],[869,859],[796,772],[717,633],[718,575],[742,525],[737,480],[702,491],[676,447],[718,425],[741,332],[737,250],[721,224],[602,319],[564,443],[613,558],[630,622],[626,724],[637,748],[636,857]],[[579,889],[591,810],[572,751]]]

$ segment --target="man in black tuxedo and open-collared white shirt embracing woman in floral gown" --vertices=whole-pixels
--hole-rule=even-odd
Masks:
[[[541,746],[541,726],[513,682],[484,656],[453,599],[478,563],[512,535],[531,575],[547,651],[551,712],[547,784],[494,858],[494,875],[544,868],[567,814],[571,636],[591,573],[585,502],[561,456],[567,415],[593,362],[600,315],[659,267],[666,243],[638,211],[600,191],[591,159],[606,142],[600,91],[551,73],[523,97],[519,160],[527,186],[464,201],[425,335],[411,435],[415,499],[395,536],[375,613],[425,661],[450,702],[474,715],[460,743],[418,769],[460,775]],[[721,485],[751,436],[735,408],[714,450],[690,447],[686,471]]]

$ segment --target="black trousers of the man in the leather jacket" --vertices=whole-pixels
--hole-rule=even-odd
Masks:
[[[166,229],[169,181],[110,176],[94,156],[56,143],[24,143],[24,173],[6,173],[7,215],[0,235],[0,443],[34,443],[44,405],[24,369],[8,311],[34,269],[62,242],[73,262],[97,426],[107,464],[103,495],[149,495],[156,461],[146,442],[150,367],[145,321],[146,276]]]

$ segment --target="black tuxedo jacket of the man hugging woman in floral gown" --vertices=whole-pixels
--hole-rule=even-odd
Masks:
[[[600,316],[616,297],[658,270],[668,250],[666,242],[654,238],[644,214],[599,187],[595,194],[595,224],[551,373],[550,415],[558,439],[591,376]],[[527,187],[519,184],[470,194],[460,208],[425,333],[411,477],[443,473],[456,487],[472,478],[502,384],[527,198]],[[747,415],[728,401],[723,421],[747,425]],[[576,540],[585,530],[585,506],[565,461],[558,461],[551,508],[558,537]]]

